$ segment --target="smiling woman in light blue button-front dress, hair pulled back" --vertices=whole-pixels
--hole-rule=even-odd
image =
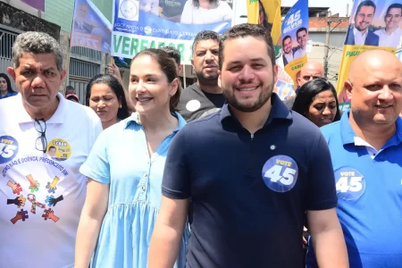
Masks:
[[[163,66],[163,68],[161,68]],[[130,67],[136,113],[104,130],[80,172],[88,177],[75,248],[75,268],[146,268],[162,198],[167,151],[186,121],[175,112],[175,63],[160,49],[137,54]],[[188,230],[175,267],[185,266]]]

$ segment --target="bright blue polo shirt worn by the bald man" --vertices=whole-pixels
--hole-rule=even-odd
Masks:
[[[366,147],[355,145],[348,115],[323,127],[322,134],[331,151],[350,267],[402,267],[402,119],[372,158]],[[316,267],[311,250],[307,267]]]

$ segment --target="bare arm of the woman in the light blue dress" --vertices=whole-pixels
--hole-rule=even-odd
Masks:
[[[108,198],[109,185],[88,178],[87,197],[75,243],[74,267],[76,268],[88,268],[105,217]]]

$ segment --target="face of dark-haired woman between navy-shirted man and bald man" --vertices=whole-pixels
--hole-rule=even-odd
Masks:
[[[308,109],[307,118],[318,127],[331,123],[337,113],[337,102],[330,89],[317,94]]]

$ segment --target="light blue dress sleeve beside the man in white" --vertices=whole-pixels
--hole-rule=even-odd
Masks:
[[[87,161],[80,167],[80,173],[101,183],[110,183],[110,165],[107,155],[107,131],[96,139]]]

